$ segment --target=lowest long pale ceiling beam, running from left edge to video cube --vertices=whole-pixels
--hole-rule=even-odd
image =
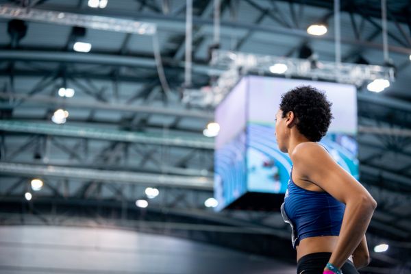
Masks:
[[[197,188],[212,190],[212,179],[208,177],[186,177],[176,175],[156,175],[128,171],[103,171],[98,169],[67,168],[62,166],[40,166],[35,164],[16,164],[0,162],[0,173],[18,176],[50,176],[77,179],[90,179],[102,182],[168,186],[174,188]]]

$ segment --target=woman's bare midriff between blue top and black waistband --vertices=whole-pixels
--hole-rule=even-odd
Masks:
[[[304,238],[297,245],[297,262],[298,260],[310,253],[334,251],[338,241],[338,236],[318,236]]]

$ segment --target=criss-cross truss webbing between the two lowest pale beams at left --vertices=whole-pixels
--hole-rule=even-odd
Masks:
[[[212,150],[211,149],[186,149],[182,147],[164,147],[163,145],[148,145],[132,142],[119,142],[103,140],[105,144],[99,149],[88,149],[88,138],[78,138],[76,141],[71,136],[51,136],[45,134],[31,134],[32,138],[21,140],[21,144],[14,151],[5,151],[1,160],[3,162],[17,162],[22,164],[47,164],[56,166],[88,169],[114,169],[116,171],[133,171],[153,174],[172,174],[188,176],[212,177]],[[5,144],[14,144],[16,135],[3,134]],[[10,147],[10,145],[9,145]],[[41,149],[41,151],[40,151]],[[153,153],[155,149],[155,153]],[[160,151],[159,151],[160,149]],[[62,153],[60,153],[60,151]],[[179,155],[188,157],[190,167],[178,166],[174,159]],[[191,153],[195,151],[197,153]],[[184,153],[183,153],[184,152]],[[135,155],[137,153],[138,155]],[[171,156],[173,155],[173,156]],[[178,156],[177,156],[178,155]],[[195,156],[198,155],[197,158]],[[207,156],[200,158],[199,156]],[[211,166],[210,166],[211,164]],[[192,167],[191,167],[192,166]],[[188,167],[188,168],[187,168]]]

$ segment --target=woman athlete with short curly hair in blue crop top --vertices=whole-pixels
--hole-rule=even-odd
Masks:
[[[282,95],[276,114],[278,147],[292,161],[282,215],[292,227],[297,274],[351,274],[369,264],[365,232],[377,202],[318,143],[331,105],[301,86]]]

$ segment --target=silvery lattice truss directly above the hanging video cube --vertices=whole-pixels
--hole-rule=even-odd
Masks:
[[[218,105],[244,75],[253,73],[264,75],[264,73],[271,73],[271,66],[277,63],[286,65],[286,71],[284,71],[286,77],[323,79],[332,82],[355,84],[356,86],[374,79],[393,81],[395,75],[394,69],[389,66],[351,63],[336,64],[336,62],[321,61],[321,66],[313,67],[312,62],[308,59],[214,50],[211,64],[225,68],[225,73],[221,74],[212,86],[213,96],[211,99],[208,99],[206,94],[198,92],[197,90],[194,90],[192,93],[199,94],[200,98],[201,95],[203,96],[203,102],[200,100],[200,103],[203,103],[203,105]],[[194,97],[193,95],[191,96]],[[190,98],[188,92],[186,98],[188,98],[187,101]]]

